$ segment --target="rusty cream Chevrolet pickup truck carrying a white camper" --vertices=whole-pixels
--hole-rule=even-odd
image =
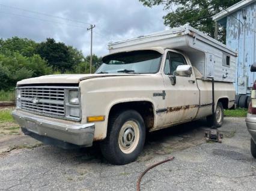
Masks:
[[[236,52],[189,26],[109,47],[96,74],[19,81],[13,117],[22,131],[63,148],[100,141],[103,156],[121,165],[138,157],[146,131],[202,117],[221,126],[234,105]]]

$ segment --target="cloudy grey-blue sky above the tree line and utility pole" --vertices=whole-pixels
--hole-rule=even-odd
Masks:
[[[93,24],[93,52],[102,56],[110,41],[165,30],[165,14],[163,7],[144,7],[138,0],[0,0],[0,38],[40,42],[50,37],[88,55],[87,28]]]

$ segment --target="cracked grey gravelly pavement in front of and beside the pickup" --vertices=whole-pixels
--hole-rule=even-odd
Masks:
[[[0,190],[255,190],[256,160],[245,118],[226,117],[222,143],[206,143],[206,122],[186,123],[148,135],[141,156],[128,165],[106,162],[97,145],[61,150],[43,145],[0,156]]]

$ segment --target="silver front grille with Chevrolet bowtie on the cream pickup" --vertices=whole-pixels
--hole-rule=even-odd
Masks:
[[[19,87],[20,108],[47,116],[65,117],[64,87]]]

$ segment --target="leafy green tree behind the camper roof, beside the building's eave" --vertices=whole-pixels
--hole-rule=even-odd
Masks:
[[[212,16],[236,4],[240,0],[139,0],[147,7],[164,5],[169,11],[163,16],[166,26],[178,27],[186,23],[214,37]],[[220,37],[223,41],[223,37]]]

